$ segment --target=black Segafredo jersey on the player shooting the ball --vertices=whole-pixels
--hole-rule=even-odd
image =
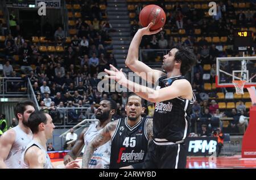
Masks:
[[[184,76],[158,79],[156,89],[171,86],[178,79],[186,79]],[[189,133],[192,105],[196,101],[193,94],[192,101],[177,97],[155,104],[153,134],[155,144],[164,145],[170,142],[183,143]]]

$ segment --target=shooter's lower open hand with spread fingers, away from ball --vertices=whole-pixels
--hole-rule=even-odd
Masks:
[[[115,81],[117,81],[120,85],[122,85],[122,83],[124,83],[125,81],[127,81],[127,78],[125,77],[125,74],[123,74],[122,69],[118,70],[117,68],[115,68],[113,65],[109,65],[111,70],[108,69],[104,69],[104,71],[106,73],[108,73],[110,76],[105,76],[107,78],[110,79],[114,79]]]

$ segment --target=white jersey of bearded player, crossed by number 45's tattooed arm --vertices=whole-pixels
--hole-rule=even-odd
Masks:
[[[88,146],[90,141],[93,140],[93,138],[98,135],[100,131],[97,130],[97,123],[90,124],[88,130],[84,134],[84,148]],[[108,143],[98,147],[93,152],[93,156],[90,159],[88,168],[90,169],[107,169],[109,168],[110,163],[110,150],[111,150],[111,141],[108,141]]]

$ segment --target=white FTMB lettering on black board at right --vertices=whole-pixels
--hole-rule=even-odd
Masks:
[[[204,153],[208,150],[209,153],[213,153],[216,151],[217,141],[210,140],[209,143],[207,140],[195,140],[189,141],[188,151],[193,153],[199,152],[199,150]]]

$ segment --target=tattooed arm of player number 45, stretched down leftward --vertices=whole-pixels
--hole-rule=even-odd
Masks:
[[[82,156],[82,168],[88,168],[90,158],[93,156],[94,149],[107,143],[117,127],[118,120],[108,123],[104,129],[96,136],[85,149],[84,155]]]

